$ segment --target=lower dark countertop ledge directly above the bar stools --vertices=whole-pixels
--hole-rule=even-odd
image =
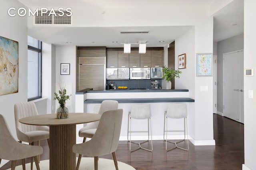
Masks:
[[[84,104],[102,103],[103,100],[116,100],[118,103],[163,103],[163,102],[195,102],[191,98],[127,98],[127,99],[86,99]]]

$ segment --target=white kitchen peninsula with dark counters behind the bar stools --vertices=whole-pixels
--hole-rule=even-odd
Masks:
[[[189,92],[186,89],[148,89],[148,90],[91,90],[85,89],[76,92],[76,112],[93,113],[95,106],[100,106],[103,100],[117,100],[118,108],[123,109],[123,120],[120,134],[120,140],[127,140],[128,112],[132,104],[149,103],[152,115],[153,140],[162,140],[164,135],[164,111],[166,111],[170,102],[186,102],[188,108],[194,105],[194,99],[189,98]],[[137,123],[133,120],[133,127],[144,131],[147,127],[147,121]],[[177,119],[173,122],[178,129],[184,128],[184,121]],[[82,127],[80,127],[82,128]],[[79,129],[79,128],[77,128]],[[136,134],[135,134],[136,135]],[[147,134],[138,134],[134,139],[144,140]],[[172,135],[172,138],[179,138],[182,134]],[[82,138],[77,138],[82,142]]]

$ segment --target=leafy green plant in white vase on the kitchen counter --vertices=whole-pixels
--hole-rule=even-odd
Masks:
[[[173,68],[169,69],[168,67],[163,67],[163,78],[167,81],[166,89],[172,88],[171,80],[176,78],[180,78],[180,74],[182,72],[180,70],[174,70]]]

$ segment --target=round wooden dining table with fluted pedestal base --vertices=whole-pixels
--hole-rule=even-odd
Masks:
[[[57,119],[56,114],[44,114],[24,117],[20,123],[50,127],[50,170],[75,170],[76,153],[72,147],[76,144],[76,125],[100,120],[95,113],[68,113],[68,118]]]

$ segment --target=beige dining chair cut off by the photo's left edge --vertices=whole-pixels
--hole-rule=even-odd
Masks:
[[[15,170],[16,161],[22,160],[22,168],[25,170],[25,158],[34,158],[36,169],[40,170],[37,155],[43,153],[40,146],[31,146],[18,143],[11,135],[3,115],[0,114],[0,163],[2,159],[11,160],[11,170]]]

